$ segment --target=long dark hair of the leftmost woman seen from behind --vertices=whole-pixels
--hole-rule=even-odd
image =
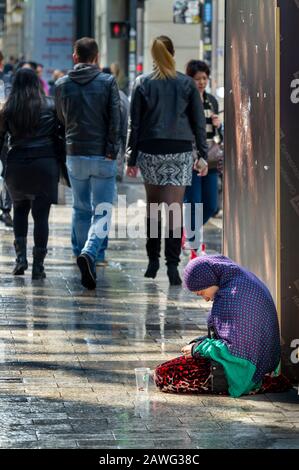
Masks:
[[[20,69],[3,108],[5,120],[18,137],[31,135],[38,127],[44,93],[36,73]]]

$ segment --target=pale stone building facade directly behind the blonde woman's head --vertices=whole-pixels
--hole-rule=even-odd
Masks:
[[[119,63],[126,75],[136,76],[152,70],[150,42],[155,36],[167,34],[176,49],[176,63],[184,71],[191,58],[203,58],[202,24],[174,23],[173,0],[95,0],[95,37],[100,44],[101,65]],[[224,83],[224,10],[225,0],[213,0],[212,89]],[[127,21],[130,39],[113,39],[111,22]],[[135,62],[132,62],[133,51]]]

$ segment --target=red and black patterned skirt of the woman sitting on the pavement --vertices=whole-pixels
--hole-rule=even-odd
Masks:
[[[166,393],[212,394],[211,364],[208,359],[180,356],[164,362],[155,370],[157,387]],[[266,375],[256,393],[281,393],[291,388],[290,381],[283,375]],[[225,393],[221,393],[225,395]]]

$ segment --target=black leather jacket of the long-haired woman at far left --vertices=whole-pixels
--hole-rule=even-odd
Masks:
[[[40,121],[34,133],[26,137],[18,136],[16,129],[13,129],[11,123],[4,119],[0,113],[0,151],[3,148],[5,136],[8,134],[8,155],[16,153],[23,149],[55,149],[56,137],[58,135],[58,118],[55,110],[54,100],[50,97],[44,97],[41,108]],[[39,151],[42,153],[42,150]]]

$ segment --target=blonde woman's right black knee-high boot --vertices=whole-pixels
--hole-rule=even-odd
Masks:
[[[165,239],[165,258],[170,285],[180,286],[182,280],[179,275],[178,265],[180,264],[182,236],[175,238],[175,235],[175,232],[169,230],[169,237]]]

